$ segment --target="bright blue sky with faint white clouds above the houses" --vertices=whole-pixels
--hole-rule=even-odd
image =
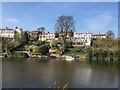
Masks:
[[[73,16],[76,32],[96,34],[112,30],[118,36],[117,2],[3,2],[2,28],[36,30],[44,26],[46,32],[54,32],[61,15]]]

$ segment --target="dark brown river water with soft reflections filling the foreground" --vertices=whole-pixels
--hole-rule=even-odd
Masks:
[[[118,67],[85,61],[3,59],[3,88],[117,88]]]

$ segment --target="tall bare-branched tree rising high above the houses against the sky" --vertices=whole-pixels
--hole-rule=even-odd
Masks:
[[[64,41],[64,48],[66,47],[66,38],[68,32],[74,32],[75,27],[74,27],[74,20],[72,16],[60,16],[57,19],[56,25],[55,25],[55,31],[59,34],[62,34],[61,37],[63,38]]]

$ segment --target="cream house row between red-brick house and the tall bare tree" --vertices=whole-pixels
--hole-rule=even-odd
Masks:
[[[39,40],[41,41],[51,41],[51,40],[58,40],[58,37],[56,36],[55,33],[45,33],[42,35],[39,35]]]

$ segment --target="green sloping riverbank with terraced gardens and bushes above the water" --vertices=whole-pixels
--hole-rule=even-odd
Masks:
[[[28,43],[27,46],[23,45],[22,48],[18,48],[17,50],[11,52],[6,51],[4,57],[64,59],[67,55],[75,55],[78,57],[77,60],[119,61],[120,51],[117,49],[117,46],[117,40],[114,39],[93,40],[91,46],[75,46],[71,44],[69,47],[66,46],[65,51],[61,49],[62,46],[58,47],[57,44],[56,46],[50,47],[47,43],[39,46]]]

